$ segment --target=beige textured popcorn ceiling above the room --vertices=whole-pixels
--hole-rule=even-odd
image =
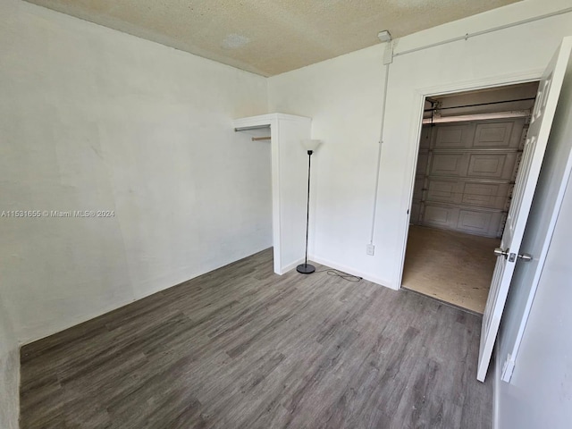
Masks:
[[[518,0],[29,0],[273,76]]]

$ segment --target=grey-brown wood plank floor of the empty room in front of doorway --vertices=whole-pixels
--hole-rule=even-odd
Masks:
[[[491,427],[479,316],[272,266],[265,250],[23,347],[21,427]]]

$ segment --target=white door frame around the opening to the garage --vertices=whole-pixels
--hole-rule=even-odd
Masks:
[[[405,257],[407,251],[408,243],[408,232],[409,232],[409,221],[411,218],[411,204],[413,202],[413,189],[415,187],[415,175],[416,175],[416,164],[417,157],[419,156],[419,140],[421,139],[421,130],[423,127],[423,114],[425,110],[425,98],[443,96],[447,94],[454,94],[458,92],[465,92],[478,89],[487,88],[498,88],[505,87],[509,85],[517,85],[519,83],[528,83],[540,80],[543,76],[544,69],[537,69],[532,71],[526,71],[523,73],[514,73],[503,76],[495,76],[480,80],[467,80],[462,82],[450,83],[445,85],[439,85],[435,87],[427,88],[417,88],[415,90],[415,108],[413,109],[413,122],[416,123],[416,129],[412,130],[411,140],[409,142],[409,153],[408,153],[408,168],[405,169],[405,181],[404,188],[402,190],[402,195],[404,198],[401,199],[401,213],[406,213],[404,216],[404,221],[400,225],[401,229],[401,240],[398,243],[398,248],[396,251],[399,254],[399,264],[396,264],[396,271],[393,275],[395,279],[396,289],[400,290],[402,288],[401,282],[403,282],[403,269],[405,267]],[[414,132],[415,131],[415,132]]]

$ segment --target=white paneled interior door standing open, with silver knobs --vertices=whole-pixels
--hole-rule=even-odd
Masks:
[[[520,244],[525,232],[526,221],[533,202],[534,189],[543,164],[544,151],[551,130],[552,119],[556,112],[560,88],[568,66],[570,40],[565,40],[543,73],[538,87],[530,128],[517,174],[507,223],[501,240],[502,254],[492,274],[491,290],[484,307],[481,328],[481,345],[476,378],[484,382],[491,362],[492,348],[496,341],[501,315],[504,309],[512,274],[517,261],[521,258]]]

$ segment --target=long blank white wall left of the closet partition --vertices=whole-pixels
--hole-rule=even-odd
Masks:
[[[20,342],[272,246],[264,78],[19,0],[0,40],[0,212],[115,214],[0,218]]]

